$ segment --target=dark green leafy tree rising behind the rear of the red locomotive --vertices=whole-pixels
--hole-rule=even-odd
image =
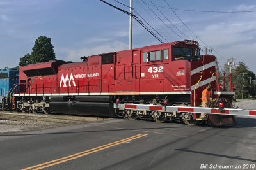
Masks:
[[[19,66],[47,62],[49,60],[56,60],[51,38],[40,36],[36,39],[31,54],[27,53],[23,57],[20,57]]]

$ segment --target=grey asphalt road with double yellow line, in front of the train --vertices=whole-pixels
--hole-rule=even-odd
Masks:
[[[111,119],[3,134],[0,155],[0,169],[256,169],[256,119],[235,127]]]

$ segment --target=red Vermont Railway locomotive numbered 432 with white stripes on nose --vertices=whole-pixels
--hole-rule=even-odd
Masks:
[[[199,55],[196,41],[184,40],[120,52],[20,67],[17,108],[22,111],[76,113],[127,118],[154,118],[186,124],[198,122],[193,113],[115,110],[114,103],[157,106],[200,106],[204,85],[211,84],[211,106],[232,108],[232,84],[219,85],[216,57]],[[224,78],[225,80],[225,78]],[[234,124],[233,116],[211,115],[209,122]]]

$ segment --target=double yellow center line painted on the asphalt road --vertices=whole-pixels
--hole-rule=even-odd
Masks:
[[[106,145],[102,145],[102,146],[99,146],[97,148],[92,148],[90,150],[85,150],[83,152],[79,152],[79,153],[76,153],[76,154],[73,154],[73,155],[69,155],[67,157],[63,157],[63,158],[60,158],[60,159],[56,159],[56,160],[51,160],[49,162],[45,162],[43,164],[38,164],[36,166],[31,166],[31,167],[27,167],[25,169],[22,169],[22,170],[27,170],[27,169],[43,169],[45,167],[50,167],[50,166],[54,166],[56,164],[61,164],[63,162],[67,162],[68,160],[73,160],[73,159],[77,159],[79,157],[83,157],[85,155],[89,155],[91,153],[94,153],[94,152],[98,152],[100,150],[105,150],[106,148],[110,148],[110,147],[113,147],[113,146],[116,146],[116,145],[120,145],[122,143],[125,143],[125,142],[128,142],[128,141],[132,141],[134,139],[137,139],[137,138],[141,138],[143,136],[147,136],[148,134],[137,134],[135,136],[131,136],[130,138],[125,138],[125,139],[122,139],[120,141],[115,141],[113,143],[109,143],[109,144],[106,144]]]

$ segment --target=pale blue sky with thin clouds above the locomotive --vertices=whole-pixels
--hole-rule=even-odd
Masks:
[[[129,11],[129,0],[118,0],[127,6],[106,1]],[[233,57],[256,73],[256,12],[202,12],[256,11],[255,0],[166,0],[193,33],[164,0],[151,1],[133,0],[133,8],[164,39],[193,39],[202,48],[210,46],[214,51],[208,53],[216,55],[220,66]],[[133,23],[133,48],[160,43]],[[77,62],[82,56],[129,49],[129,15],[99,0],[0,0],[0,68],[18,66],[19,58],[31,53],[39,36],[51,38],[56,59]]]

